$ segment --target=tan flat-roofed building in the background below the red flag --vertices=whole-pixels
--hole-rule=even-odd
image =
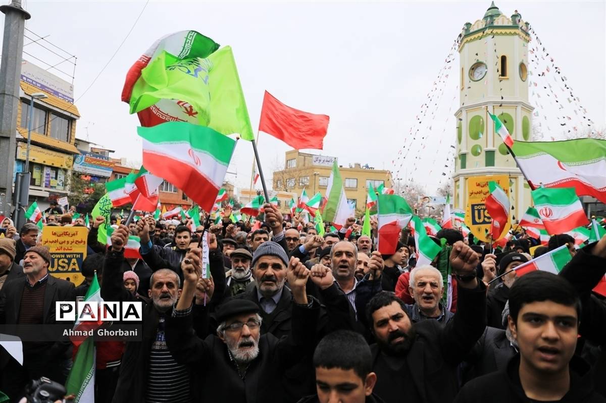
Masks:
[[[296,149],[287,151],[284,169],[273,172],[273,190],[301,195],[305,189],[309,197],[317,192],[324,195],[335,160],[335,157],[317,156]],[[377,188],[382,184],[386,188],[391,188],[390,171],[375,169],[368,165],[362,166],[359,163],[348,167],[339,166],[339,171],[347,200],[356,209],[357,215],[364,213],[369,185]]]

